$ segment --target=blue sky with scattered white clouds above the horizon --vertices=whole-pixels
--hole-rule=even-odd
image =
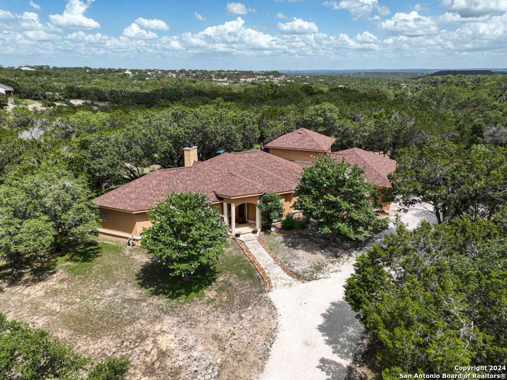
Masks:
[[[506,67],[507,0],[3,0],[0,64]]]

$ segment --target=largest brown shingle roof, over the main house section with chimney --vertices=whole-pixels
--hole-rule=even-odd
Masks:
[[[302,167],[266,152],[224,153],[190,167],[160,169],[95,198],[99,206],[126,211],[152,208],[174,191],[202,191],[211,201],[292,191]]]

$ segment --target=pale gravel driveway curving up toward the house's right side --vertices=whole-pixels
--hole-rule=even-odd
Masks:
[[[402,221],[414,228],[426,219],[425,205],[414,206]],[[394,232],[390,223],[385,233]],[[379,237],[372,244],[382,241]],[[354,258],[329,278],[269,293],[278,314],[278,333],[261,380],[342,380],[351,363],[363,327],[344,300],[345,281]]]

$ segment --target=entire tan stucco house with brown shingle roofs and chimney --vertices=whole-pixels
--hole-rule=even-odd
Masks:
[[[262,218],[256,203],[262,195],[279,194],[284,215],[290,213],[296,200],[293,188],[304,167],[313,165],[315,157],[322,154],[364,166],[369,182],[379,189],[391,187],[387,174],[394,170],[394,160],[358,148],[331,153],[334,142],[332,137],[301,128],[267,144],[269,153],[223,153],[206,161],[198,161],[198,148],[189,144],[184,149],[184,167],[155,170],[94,199],[99,206],[100,236],[139,240],[142,228],[152,225],[147,212],[171,190],[206,193],[230,224],[232,234],[238,223],[255,223],[260,228]]]

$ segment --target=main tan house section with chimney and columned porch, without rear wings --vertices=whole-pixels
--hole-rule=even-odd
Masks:
[[[155,202],[174,191],[201,191],[229,222],[234,234],[236,224],[255,223],[262,218],[255,203],[264,193],[280,195],[285,213],[294,203],[293,187],[303,167],[262,151],[223,153],[197,161],[197,147],[185,148],[185,166],[159,169],[111,192],[95,198],[99,206],[100,236],[139,240],[143,227],[152,224],[147,212]]]

